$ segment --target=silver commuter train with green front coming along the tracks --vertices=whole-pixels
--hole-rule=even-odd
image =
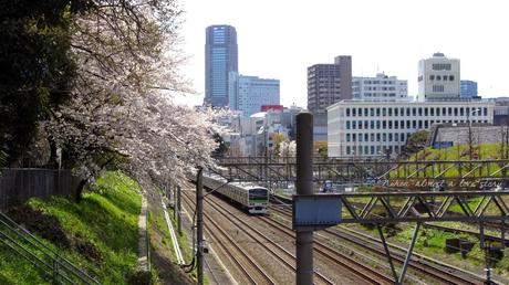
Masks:
[[[267,213],[269,190],[267,188],[243,182],[229,182],[215,175],[204,175],[204,186],[217,189],[216,192],[233,200],[251,214]]]

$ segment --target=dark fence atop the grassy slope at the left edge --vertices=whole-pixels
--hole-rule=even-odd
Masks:
[[[33,197],[74,196],[79,183],[80,178],[67,169],[2,168],[0,210],[23,203]]]

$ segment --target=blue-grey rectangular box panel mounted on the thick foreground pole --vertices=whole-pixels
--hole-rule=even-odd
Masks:
[[[341,199],[334,194],[293,196],[293,230],[324,229],[341,222]]]

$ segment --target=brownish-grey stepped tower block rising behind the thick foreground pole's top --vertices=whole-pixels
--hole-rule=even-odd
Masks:
[[[326,139],[326,107],[352,98],[352,56],[308,67],[308,109],[314,115],[314,140]]]

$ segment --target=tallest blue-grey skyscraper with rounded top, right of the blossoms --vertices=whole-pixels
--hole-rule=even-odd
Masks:
[[[237,32],[231,25],[210,25],[205,44],[205,104],[227,107],[228,74],[238,72]]]

